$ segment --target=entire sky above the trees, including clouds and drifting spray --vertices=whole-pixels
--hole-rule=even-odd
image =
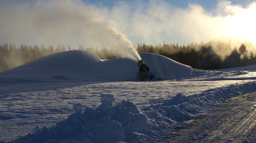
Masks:
[[[0,44],[130,47],[238,37],[256,44],[256,0],[0,0]]]

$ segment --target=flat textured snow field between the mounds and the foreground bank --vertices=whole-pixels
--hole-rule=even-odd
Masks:
[[[72,83],[75,87],[70,87],[70,83],[41,83],[40,86],[23,83],[25,89],[12,84],[5,87],[0,95],[0,138],[6,141],[13,140],[19,135],[26,135],[37,124],[48,127],[55,125],[56,122],[66,119],[72,113],[72,106],[77,103],[96,109],[101,104],[101,94],[115,95],[117,101],[131,101],[141,109],[151,104],[160,104],[178,93],[185,96],[200,94],[204,90],[226,86],[232,82],[174,80]],[[15,90],[12,90],[13,88]]]

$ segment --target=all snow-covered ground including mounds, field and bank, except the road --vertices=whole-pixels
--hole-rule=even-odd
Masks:
[[[137,61],[101,60],[79,50],[0,73],[0,141],[170,141],[184,121],[256,91],[256,66],[204,71],[140,55],[166,80],[136,81]]]

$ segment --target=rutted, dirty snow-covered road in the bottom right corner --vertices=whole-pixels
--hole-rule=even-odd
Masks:
[[[255,142],[256,93],[233,97],[177,130],[170,142]]]

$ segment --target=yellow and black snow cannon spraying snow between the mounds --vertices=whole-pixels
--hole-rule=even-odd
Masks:
[[[144,80],[149,78],[152,80],[154,78],[154,74],[152,74],[149,70],[149,67],[143,60],[139,60],[137,65],[139,66],[139,72],[137,73],[137,80]]]

